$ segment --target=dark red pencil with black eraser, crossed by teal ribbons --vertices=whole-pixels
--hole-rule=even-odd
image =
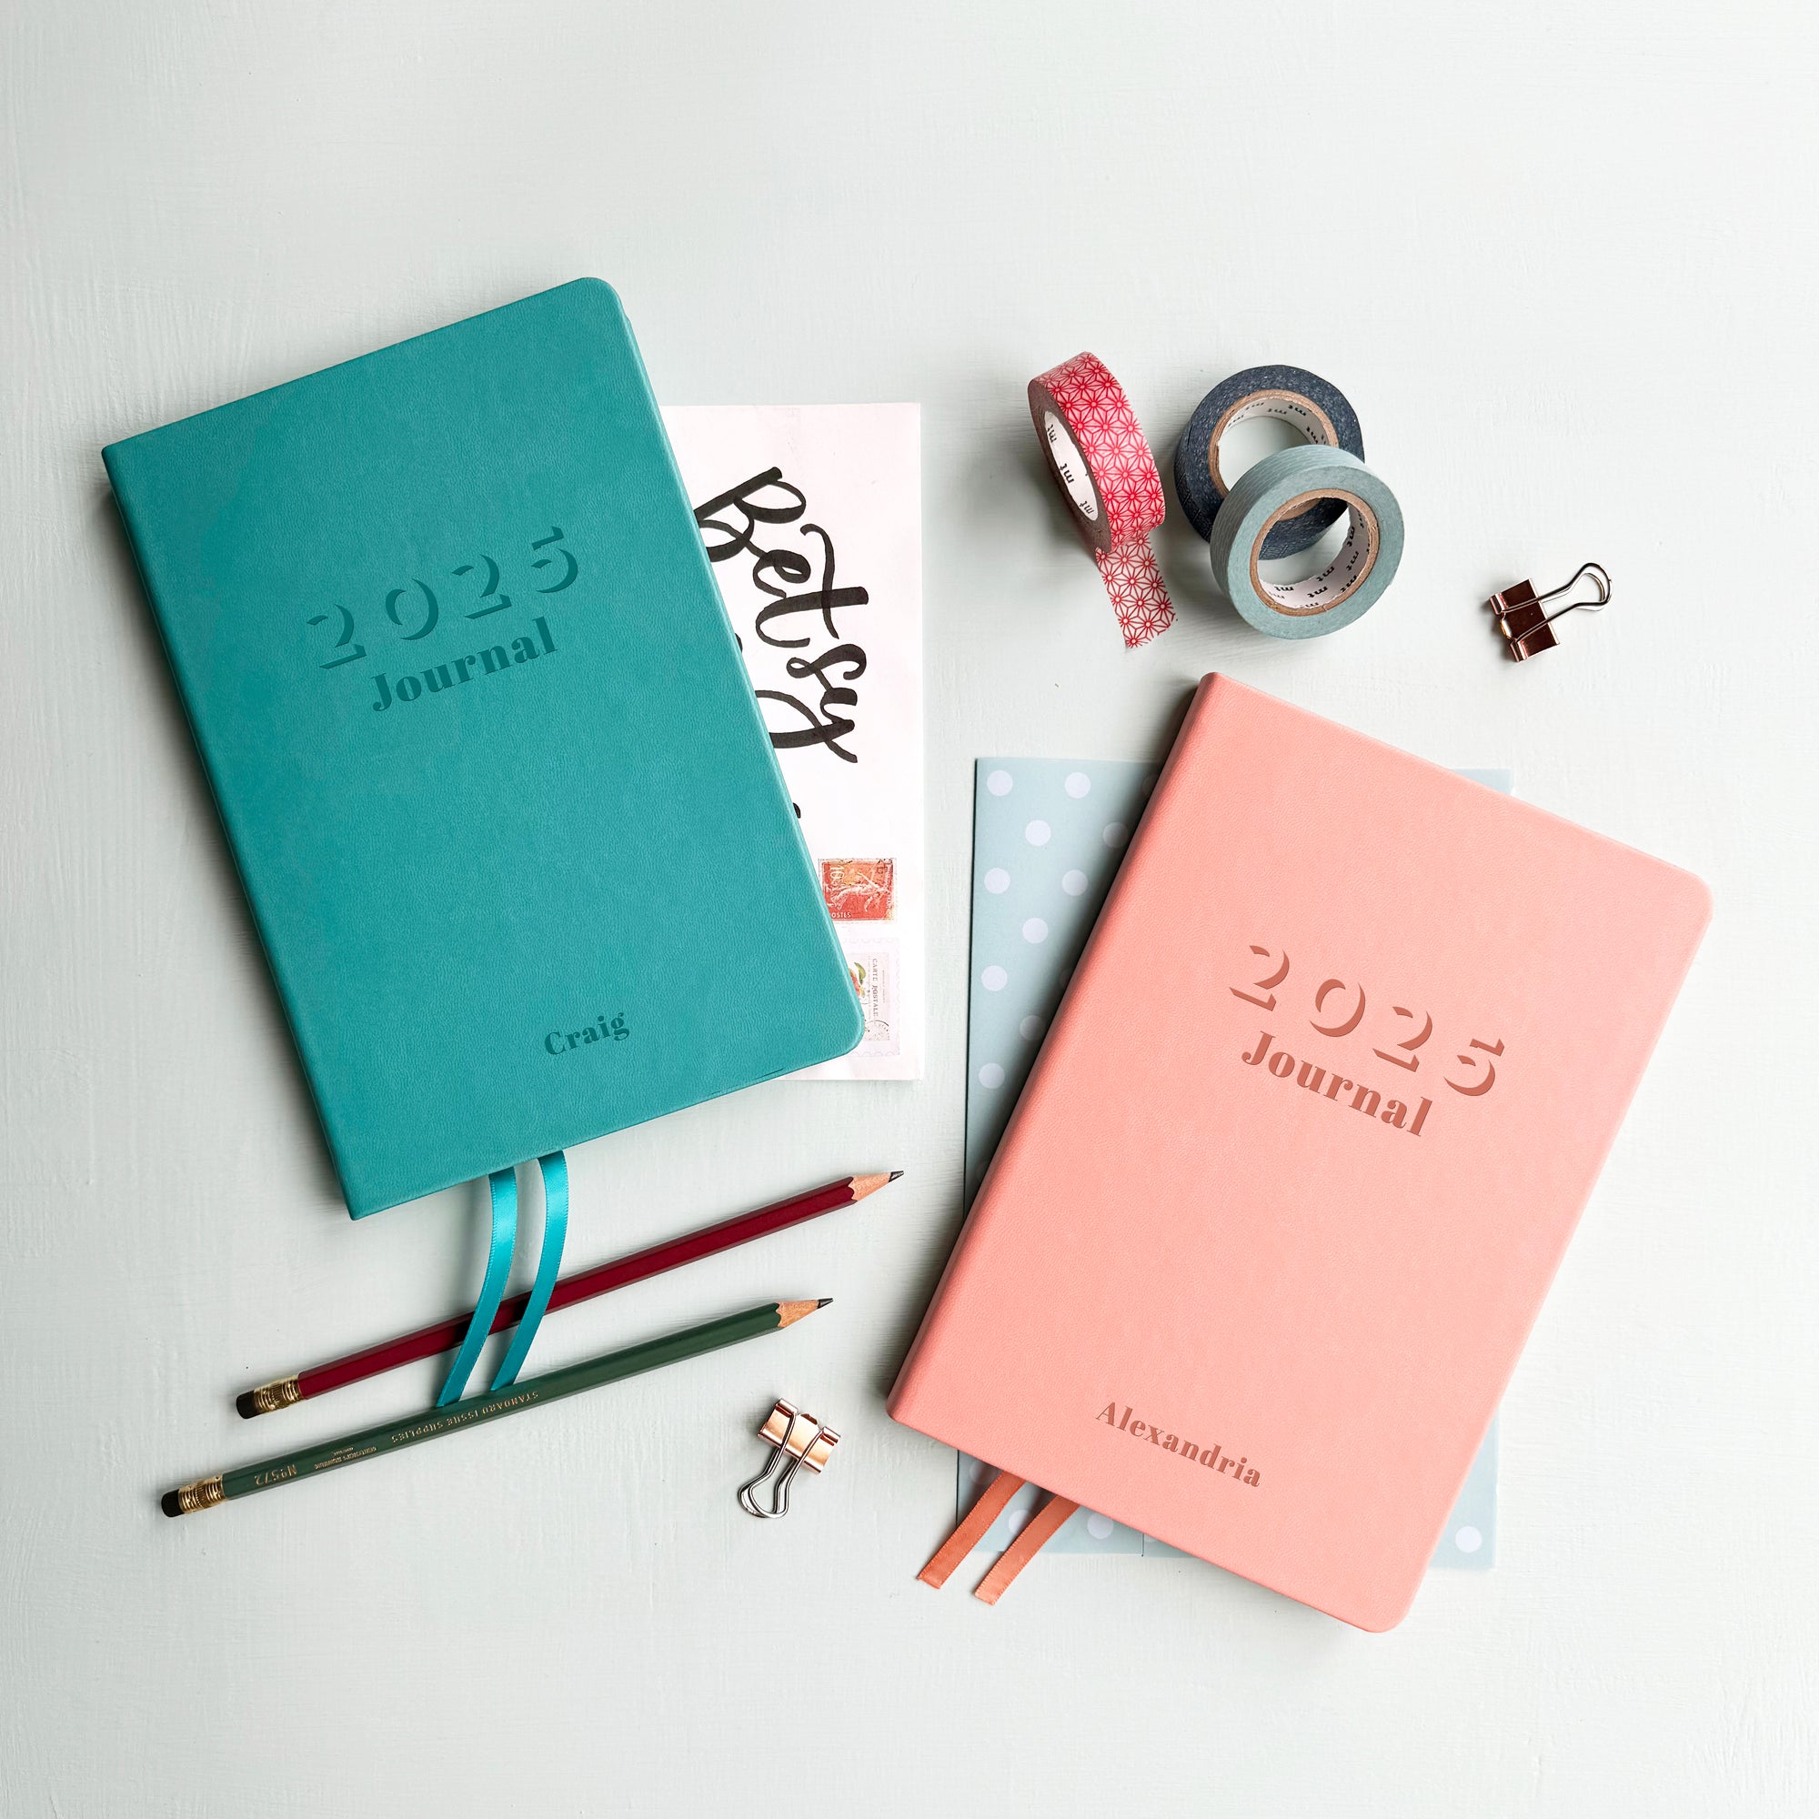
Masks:
[[[889,1175],[849,1175],[846,1181],[829,1181],[826,1188],[811,1188],[793,1201],[779,1201],[775,1206],[760,1206],[753,1213],[739,1213],[735,1219],[722,1219],[717,1226],[702,1226],[700,1231],[684,1231],[678,1239],[666,1239],[649,1250],[633,1251],[613,1262],[602,1262],[580,1275],[566,1275],[549,1293],[549,1313],[557,1308],[573,1308],[577,1301],[593,1301],[595,1295],[609,1295],[628,1282],[642,1282],[646,1277],[662,1275],[664,1270],[680,1268],[697,1257],[713,1257],[717,1251],[749,1244],[768,1231],[782,1231],[784,1226],[799,1226],[804,1219],[817,1219],[840,1206],[851,1206],[868,1193],[877,1193],[888,1181],[895,1181],[902,1170]],[[508,1326],[517,1326],[524,1306],[531,1297],[511,1295],[500,1302],[493,1315],[491,1332],[502,1333]],[[433,1359],[438,1352],[451,1352],[462,1342],[467,1321],[473,1315],[457,1313],[453,1319],[437,1321],[435,1326],[418,1326],[415,1333],[400,1339],[386,1339],[364,1352],[349,1352],[344,1359],[329,1364],[317,1364],[313,1370],[300,1370],[293,1377],[280,1377],[276,1382],[260,1384],[256,1390],[244,1390],[235,1399],[235,1408],[251,1421],[253,1415],[269,1415],[275,1408],[289,1408],[293,1402],[307,1402],[313,1397],[327,1395],[347,1382],[360,1382],[377,1377],[380,1372],[397,1370],[398,1364],[411,1364],[417,1359]]]

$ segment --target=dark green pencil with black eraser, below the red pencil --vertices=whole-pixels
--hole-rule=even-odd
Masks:
[[[509,1390],[469,1395],[451,1408],[404,1415],[400,1421],[387,1421],[382,1428],[366,1428],[338,1441],[300,1446],[295,1453],[280,1453],[276,1459],[260,1459],[256,1464],[240,1466],[235,1472],[196,1479],[178,1490],[167,1490],[162,1508],[166,1515],[211,1510],[218,1502],[251,1497],[253,1492],[271,1490],[276,1484],[293,1484],[317,1472],[335,1472],[338,1466],[351,1466],[360,1459],[377,1459],[380,1453],[395,1453],[404,1446],[417,1446],[420,1441],[440,1439],[444,1433],[460,1433],[484,1421],[515,1415],[520,1408],[535,1408],[538,1402],[578,1395],[602,1382],[618,1382],[620,1377],[637,1377],[640,1372],[658,1370],[664,1364],[678,1364],[682,1359],[700,1357],[702,1352],[719,1352],[720,1346],[737,1346],[742,1339],[757,1339],[760,1333],[795,1326],[797,1321],[826,1306],[826,1301],[768,1301],[762,1308],[728,1313],[724,1319],[708,1321],[706,1326],[689,1326],[680,1333],[666,1333],[662,1339],[646,1339],[644,1344],[626,1346],[624,1352],[608,1352],[606,1357],[569,1364],[544,1377],[529,1377]]]

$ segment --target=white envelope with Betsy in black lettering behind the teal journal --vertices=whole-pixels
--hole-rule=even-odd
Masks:
[[[804,1070],[922,1079],[922,409],[682,404],[664,427],[866,1035]]]

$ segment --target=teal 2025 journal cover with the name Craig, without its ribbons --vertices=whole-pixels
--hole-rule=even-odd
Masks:
[[[859,1042],[606,284],[104,458],[355,1217]]]

